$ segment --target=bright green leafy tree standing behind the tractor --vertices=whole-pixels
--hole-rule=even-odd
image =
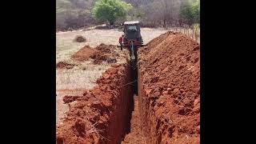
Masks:
[[[122,0],[98,0],[92,10],[94,18],[110,22],[113,26],[118,18],[125,18],[133,6]]]

